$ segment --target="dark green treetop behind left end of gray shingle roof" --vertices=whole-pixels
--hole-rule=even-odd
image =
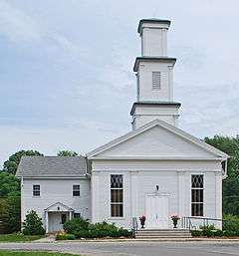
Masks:
[[[8,160],[3,163],[3,170],[12,174],[17,171],[18,164],[23,155],[43,155],[37,150],[21,150],[12,154]]]

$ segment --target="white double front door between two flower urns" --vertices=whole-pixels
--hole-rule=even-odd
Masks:
[[[168,228],[168,196],[146,196],[146,228]]]

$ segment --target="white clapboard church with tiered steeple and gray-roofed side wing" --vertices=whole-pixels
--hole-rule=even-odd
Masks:
[[[136,102],[132,130],[86,156],[23,156],[21,220],[36,210],[46,232],[82,216],[131,229],[171,229],[171,215],[222,218],[222,179],[228,155],[178,126],[173,102],[175,58],[167,56],[170,21],[142,19],[137,32]]]

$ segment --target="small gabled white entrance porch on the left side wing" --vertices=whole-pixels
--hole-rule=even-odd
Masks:
[[[63,224],[73,218],[74,209],[56,202],[45,210],[45,229],[46,233],[52,233],[63,230]]]

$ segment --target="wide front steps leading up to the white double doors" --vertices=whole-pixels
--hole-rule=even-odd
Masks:
[[[190,237],[191,233],[186,229],[140,229],[135,233],[135,238],[137,239]]]

